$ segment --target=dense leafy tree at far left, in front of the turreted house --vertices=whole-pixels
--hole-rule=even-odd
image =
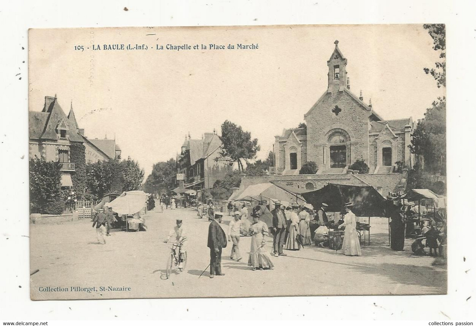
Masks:
[[[59,214],[64,208],[60,202],[61,165],[44,158],[30,159],[30,205],[40,213]],[[59,202],[59,203],[58,203]],[[53,207],[54,206],[54,207]],[[60,207],[60,211],[58,211]]]

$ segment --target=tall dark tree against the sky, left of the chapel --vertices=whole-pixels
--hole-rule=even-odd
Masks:
[[[228,161],[230,164],[237,162],[238,170],[244,171],[241,160],[248,162],[256,157],[259,151],[258,139],[251,140],[251,134],[233,122],[226,120],[221,125],[220,140],[223,146],[220,149],[221,160]]]

